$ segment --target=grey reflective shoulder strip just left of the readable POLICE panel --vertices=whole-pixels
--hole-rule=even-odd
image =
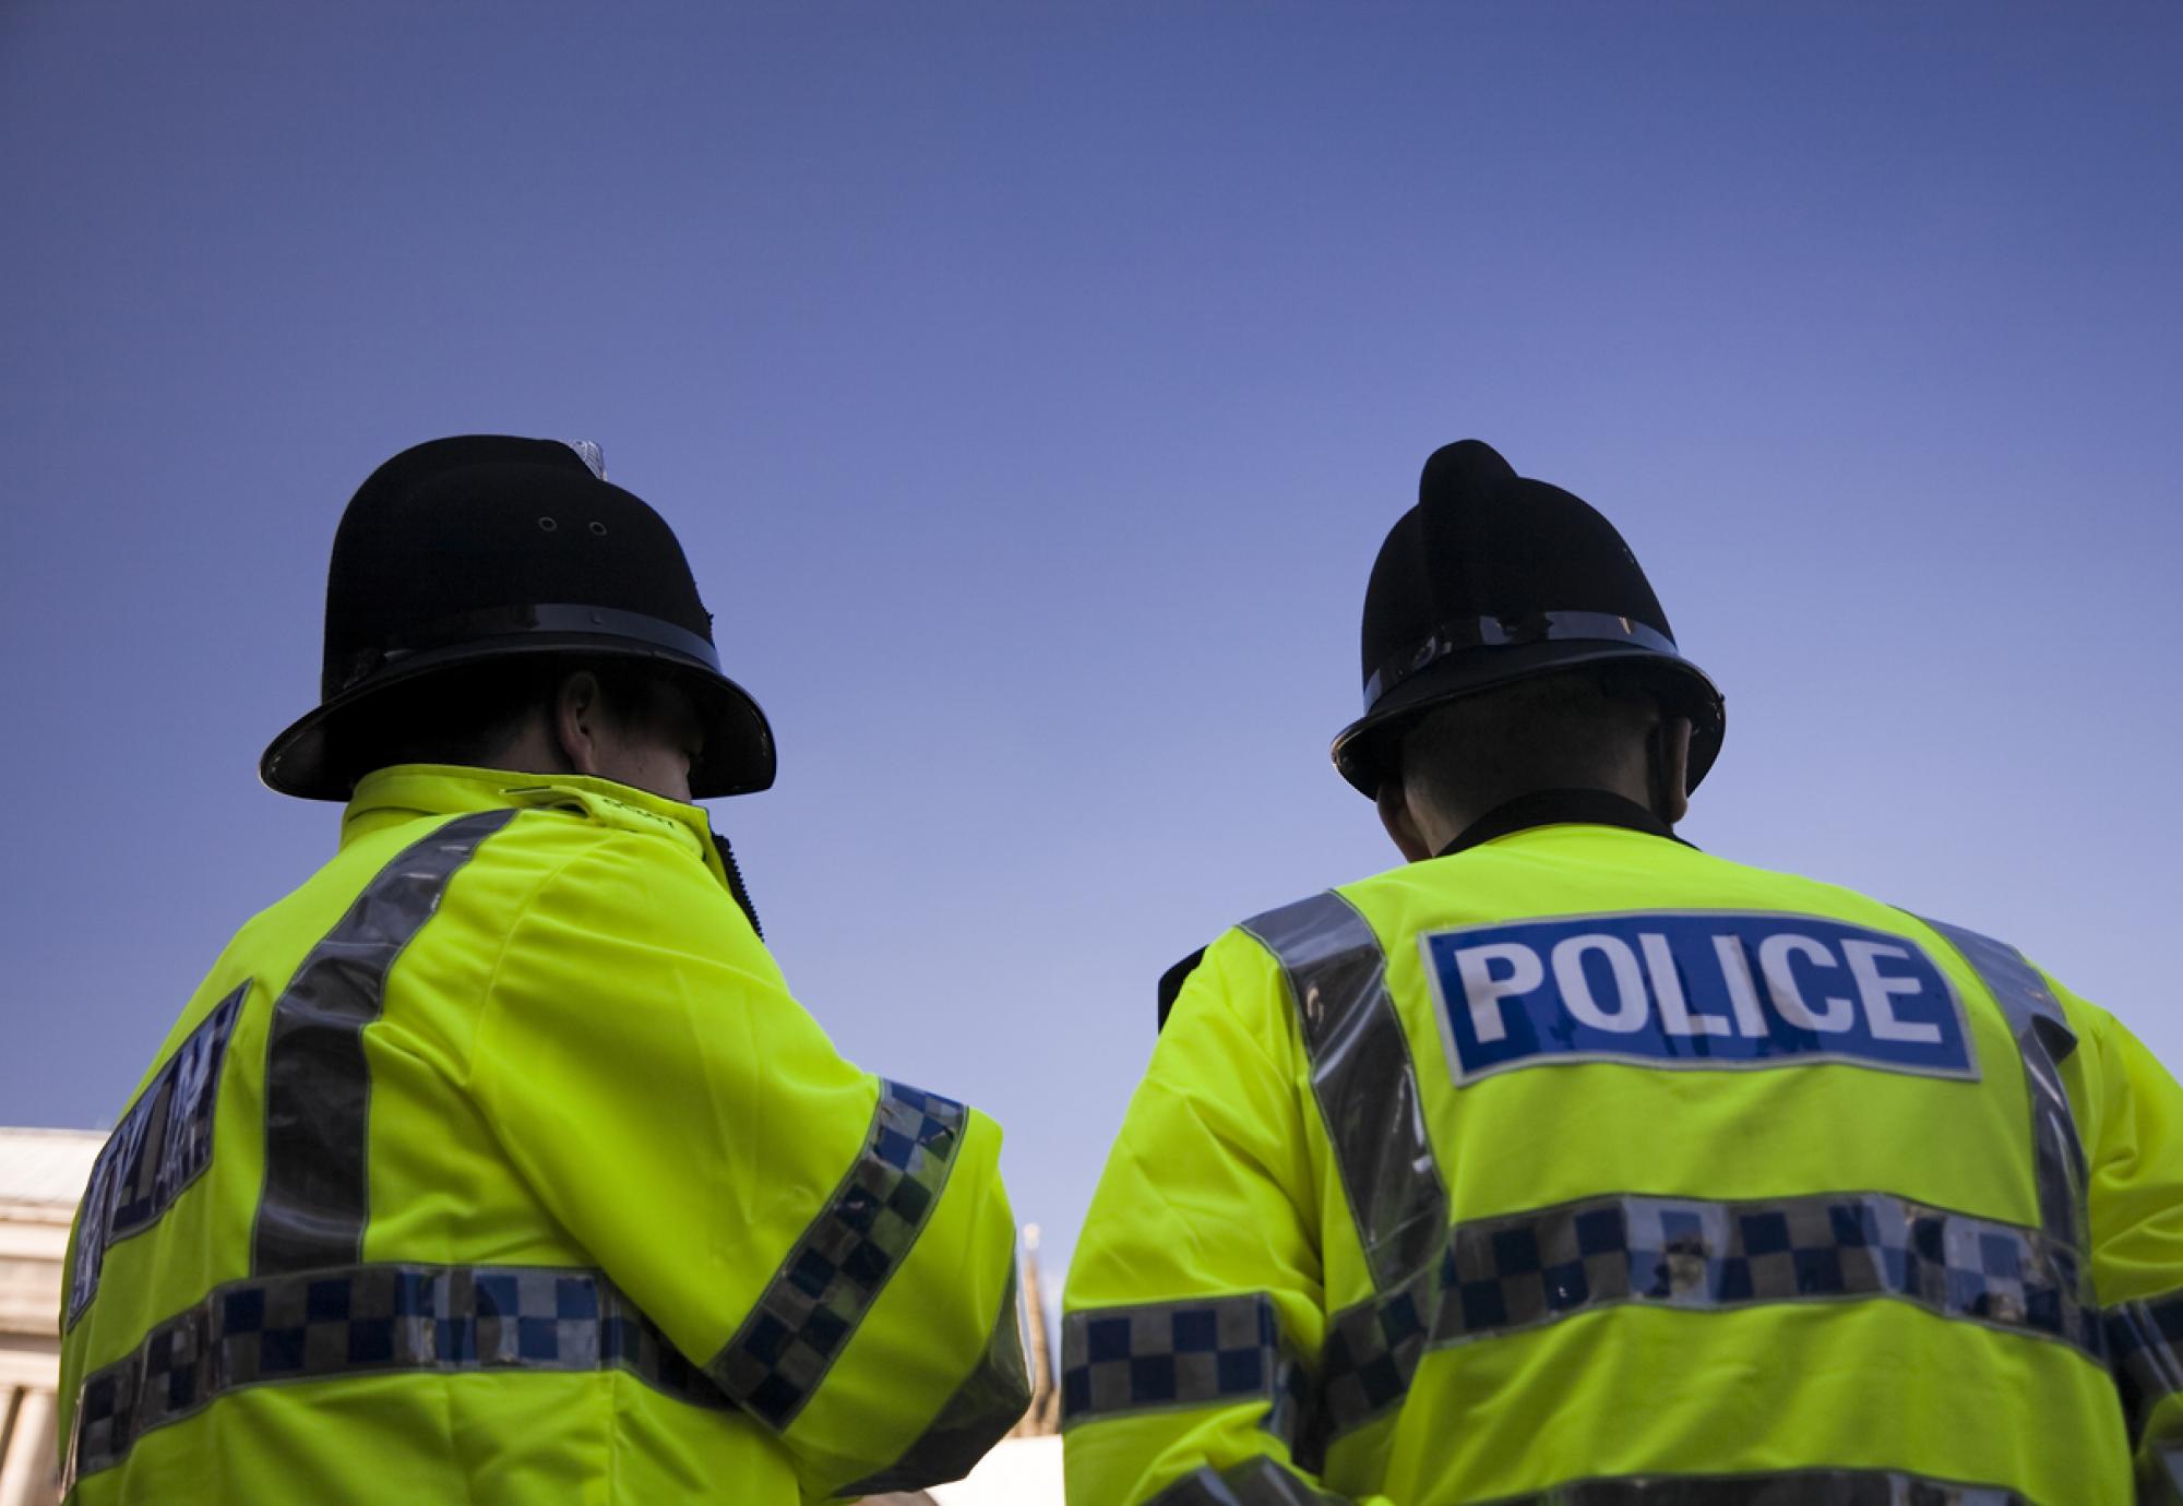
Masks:
[[[1312,1093],[1380,1288],[1432,1259],[1447,1190],[1432,1161],[1410,1043],[1386,991],[1386,954],[1356,906],[1327,891],[1242,923],[1281,963],[1312,1056]]]

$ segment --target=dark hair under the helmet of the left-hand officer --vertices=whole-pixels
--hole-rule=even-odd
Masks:
[[[648,716],[668,670],[618,655],[520,655],[465,664],[389,690],[373,731],[356,740],[356,773],[389,764],[493,768],[533,714],[550,709],[570,674],[598,677],[605,703]]]

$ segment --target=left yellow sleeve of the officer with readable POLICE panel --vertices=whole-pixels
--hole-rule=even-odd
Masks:
[[[1190,973],[1107,1157],[1063,1296],[1072,1502],[1301,1506],[1325,1334],[1308,1085],[1275,960]]]

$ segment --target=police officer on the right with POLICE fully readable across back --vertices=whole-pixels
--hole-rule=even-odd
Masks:
[[[1681,842],[1722,705],[1607,519],[1434,454],[1364,705],[1408,866],[1183,982],[1072,1504],[2179,1499],[2183,1091],[2000,941]]]

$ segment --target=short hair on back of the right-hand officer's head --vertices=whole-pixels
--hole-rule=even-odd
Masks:
[[[1659,716],[1659,698],[1626,670],[1563,670],[1428,712],[1401,738],[1399,777],[1443,814],[1530,790],[1615,788],[1646,766]]]

